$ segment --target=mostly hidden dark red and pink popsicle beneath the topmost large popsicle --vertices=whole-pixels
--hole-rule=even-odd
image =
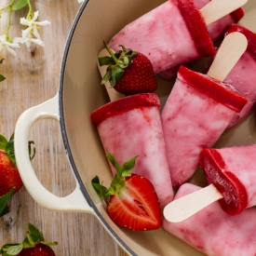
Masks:
[[[209,3],[209,1],[210,0],[194,0],[195,7],[197,9],[201,9],[202,7],[205,7]],[[232,23],[238,22],[243,18],[243,16],[244,16],[243,9],[238,8],[236,9],[236,11],[224,16],[222,19],[209,24],[209,26],[207,26],[207,30],[209,32],[209,36],[211,40],[213,42],[217,40],[222,34],[224,34],[227,31],[227,29]],[[178,69],[179,69],[179,66],[174,66],[170,69],[160,72],[159,75],[170,80],[174,76],[176,76]]]

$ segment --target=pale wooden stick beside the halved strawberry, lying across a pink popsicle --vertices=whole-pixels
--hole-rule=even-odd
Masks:
[[[210,184],[192,194],[173,200],[165,207],[164,216],[168,222],[183,222],[222,197],[216,187]]]

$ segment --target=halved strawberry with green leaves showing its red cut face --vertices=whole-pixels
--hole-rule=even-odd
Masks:
[[[107,158],[117,171],[110,188],[102,186],[98,176],[91,183],[107,203],[110,218],[134,231],[158,229],[162,225],[162,211],[155,188],[146,178],[131,173],[137,156],[123,166],[119,166],[114,155],[108,153]]]

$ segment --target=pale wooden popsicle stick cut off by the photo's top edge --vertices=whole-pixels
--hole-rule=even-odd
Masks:
[[[211,0],[209,4],[200,9],[207,26],[239,7],[244,6],[248,0]]]

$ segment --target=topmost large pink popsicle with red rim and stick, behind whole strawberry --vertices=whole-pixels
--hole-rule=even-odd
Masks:
[[[212,0],[209,4],[216,2],[223,6],[228,3],[230,9],[222,7],[211,15],[219,20],[246,1]],[[202,56],[213,56],[215,48],[207,25],[215,20],[209,19],[209,12],[204,15],[207,6],[199,11],[192,0],[168,0],[115,34],[109,47],[116,51],[119,45],[124,45],[141,52],[152,62],[155,74]],[[215,17],[216,14],[219,16]]]

